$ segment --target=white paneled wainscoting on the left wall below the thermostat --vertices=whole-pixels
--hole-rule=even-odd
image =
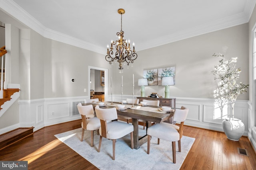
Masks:
[[[81,119],[76,104],[84,103],[84,99],[89,99],[89,96],[19,100],[20,127],[34,127],[36,131],[45,126]]]

